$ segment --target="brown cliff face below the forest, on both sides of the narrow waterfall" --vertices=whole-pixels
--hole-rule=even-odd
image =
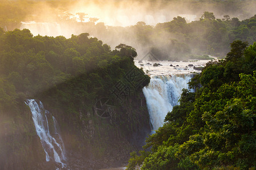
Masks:
[[[19,117],[18,122],[9,121],[5,126],[0,126],[0,144],[18,141],[19,146],[13,150],[1,148],[0,169],[123,167],[130,158],[130,152],[141,149],[151,131],[146,99],[142,91],[135,96],[129,96],[122,104],[118,101],[113,104],[115,109],[108,119],[96,116],[93,109],[85,109],[88,107],[86,103],[81,109],[73,111],[74,114],[68,115],[62,108],[55,108],[51,100],[40,100],[44,108],[54,114],[60,126],[67,158],[64,163],[67,167],[62,168],[60,164],[52,161],[46,162],[46,153],[36,135],[31,111],[23,103],[24,119]],[[26,128],[17,125],[24,125]],[[15,133],[11,133],[12,129]]]

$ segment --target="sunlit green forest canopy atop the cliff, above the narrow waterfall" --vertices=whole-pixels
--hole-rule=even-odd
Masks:
[[[2,99],[5,102],[3,105],[7,107],[7,103],[15,101],[18,94],[26,97],[44,95],[43,92],[67,80],[83,90],[77,95],[81,95],[88,105],[96,96],[110,96],[114,84],[133,68],[133,58],[137,53],[134,48],[124,44],[111,51],[102,41],[89,39],[88,36],[88,33],[82,33],[71,39],[63,36],[33,37],[28,29],[3,32],[1,28],[1,78],[5,84],[9,84],[6,87],[15,87],[8,91],[13,92],[12,95],[3,95],[6,96],[6,99]],[[148,83],[148,76],[146,78]],[[72,82],[75,80],[81,82]],[[140,85],[144,87],[147,83]],[[83,87],[79,87],[79,84]],[[81,96],[73,97],[80,99]],[[62,100],[68,103],[76,102],[72,96],[63,97]],[[6,111],[9,109],[6,108]]]

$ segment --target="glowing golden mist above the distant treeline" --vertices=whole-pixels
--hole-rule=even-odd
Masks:
[[[28,1],[29,2],[29,1]],[[196,15],[199,20],[204,11],[213,12],[216,18],[229,15],[230,18],[246,19],[254,15],[255,1],[39,1],[31,5],[26,20],[59,22],[65,14],[84,12],[86,18],[98,18],[110,26],[127,27],[137,22],[148,25],[168,22],[179,15]],[[67,19],[67,18],[65,18]],[[79,17],[75,19],[80,22]],[[192,20],[190,20],[192,21]]]

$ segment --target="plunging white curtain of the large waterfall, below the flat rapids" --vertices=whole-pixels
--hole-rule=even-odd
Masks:
[[[143,88],[143,94],[153,130],[162,126],[167,113],[179,104],[182,89],[188,88],[187,83],[191,78],[191,74],[151,76],[150,83]]]

